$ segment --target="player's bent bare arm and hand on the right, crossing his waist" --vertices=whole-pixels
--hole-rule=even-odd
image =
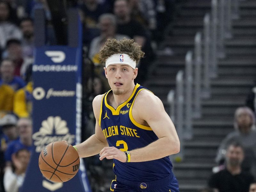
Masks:
[[[158,140],[144,148],[130,151],[131,162],[160,159],[179,152],[180,141],[177,132],[158,97],[146,90],[141,91],[135,100],[132,116],[138,123],[150,126]],[[115,158],[121,162],[126,161],[124,152],[115,147],[103,148],[100,152],[100,159],[105,157]]]

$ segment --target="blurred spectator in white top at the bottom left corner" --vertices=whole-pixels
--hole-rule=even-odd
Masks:
[[[11,167],[6,167],[4,172],[4,189],[6,192],[19,191],[25,178],[30,154],[30,151],[26,148],[21,148],[16,153],[12,154],[14,170],[12,170]]]

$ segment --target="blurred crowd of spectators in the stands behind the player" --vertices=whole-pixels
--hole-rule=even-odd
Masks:
[[[68,1],[68,0],[67,0]],[[71,2],[71,1],[70,1]],[[92,100],[109,87],[98,52],[107,39],[133,38],[145,52],[136,83],[148,77],[155,52],[172,22],[175,0],[74,0],[83,24],[83,131],[82,140],[94,133]],[[46,0],[0,0],[0,192],[17,192],[22,186],[32,149],[32,63],[34,17],[44,9],[47,45],[56,45],[51,7]],[[202,191],[256,191],[256,84],[246,105],[236,110],[234,132],[220,144],[214,174]],[[102,162],[86,158],[94,192],[104,192]],[[222,179],[220,179],[222,178]],[[232,180],[233,182],[228,182]],[[224,182],[225,181],[225,182]],[[229,186],[237,187],[229,190]],[[239,186],[243,186],[241,189]],[[250,188],[250,189],[249,189]]]

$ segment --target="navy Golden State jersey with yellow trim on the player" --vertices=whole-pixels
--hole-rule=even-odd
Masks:
[[[145,147],[158,139],[150,127],[137,123],[132,117],[134,101],[142,90],[147,89],[136,84],[132,95],[116,109],[107,103],[108,94],[112,90],[104,95],[99,124],[109,147],[114,146],[122,151],[133,150]],[[138,163],[122,163],[114,159],[113,171],[117,177],[125,180],[154,181],[169,176],[172,173],[172,163],[169,156]]]

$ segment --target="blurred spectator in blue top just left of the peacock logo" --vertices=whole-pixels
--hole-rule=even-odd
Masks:
[[[20,139],[9,143],[4,153],[7,166],[10,166],[12,154],[16,153],[21,148],[32,151],[32,120],[29,118],[20,118],[17,123],[17,128]]]

